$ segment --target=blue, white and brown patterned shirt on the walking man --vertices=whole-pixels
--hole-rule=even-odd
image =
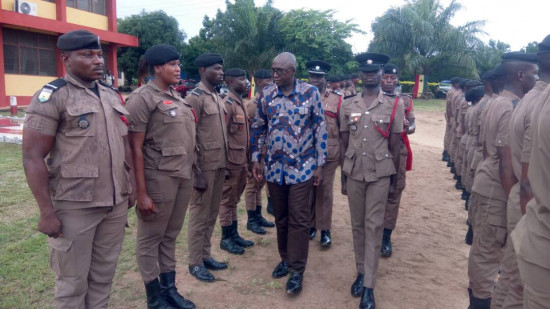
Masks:
[[[321,95],[315,86],[295,80],[285,96],[275,84],[264,88],[251,126],[252,162],[267,145],[264,172],[279,185],[309,180],[325,164],[327,127]]]

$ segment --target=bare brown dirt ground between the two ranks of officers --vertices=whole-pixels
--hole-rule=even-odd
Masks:
[[[414,170],[407,175],[392,237],[394,254],[380,259],[375,289],[377,307],[467,308],[466,211],[451,174],[441,161],[443,116],[439,112],[415,114],[418,128],[411,137]],[[242,211],[239,230],[256,246],[243,256],[229,255],[219,249],[220,233],[216,231],[213,255],[228,261],[230,269],[215,272],[220,280],[211,284],[199,282],[189,274],[186,248],[180,246],[179,291],[199,308],[357,308],[359,299],[352,298],[349,292],[356,275],[349,208],[347,198],[340,194],[339,180],[334,191],[333,245],[322,250],[318,237],[310,242],[304,289],[298,297],[286,295],[287,278],[271,278],[271,271],[279,262],[275,230],[268,229],[262,237],[250,233],[245,229],[246,215]],[[186,238],[184,231],[180,239]],[[135,294],[127,296],[128,302],[119,299],[113,307],[145,307],[144,295],[136,299],[136,294],[144,294],[144,290],[135,270],[126,273],[113,287],[130,288]]]

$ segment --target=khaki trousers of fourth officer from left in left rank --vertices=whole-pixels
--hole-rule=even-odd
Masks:
[[[223,182],[223,194],[220,205],[220,225],[230,226],[237,221],[237,204],[244,192],[248,176],[247,165],[237,169],[227,169],[229,176]],[[256,207],[254,207],[256,209]]]

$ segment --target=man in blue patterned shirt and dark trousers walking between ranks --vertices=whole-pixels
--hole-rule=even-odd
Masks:
[[[252,173],[264,177],[273,202],[282,261],[274,278],[290,272],[288,294],[302,290],[309,249],[311,194],[321,184],[327,156],[327,128],[316,87],[294,77],[296,57],[281,53],[271,66],[274,84],[264,88],[251,126]],[[267,155],[260,162],[261,149]]]

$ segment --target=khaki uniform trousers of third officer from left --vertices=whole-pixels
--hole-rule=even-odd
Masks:
[[[206,191],[193,191],[189,205],[189,225],[187,244],[189,248],[189,265],[203,265],[203,260],[210,257],[212,244],[210,238],[218,219],[222,199],[225,167],[211,171],[202,171],[208,184]]]

